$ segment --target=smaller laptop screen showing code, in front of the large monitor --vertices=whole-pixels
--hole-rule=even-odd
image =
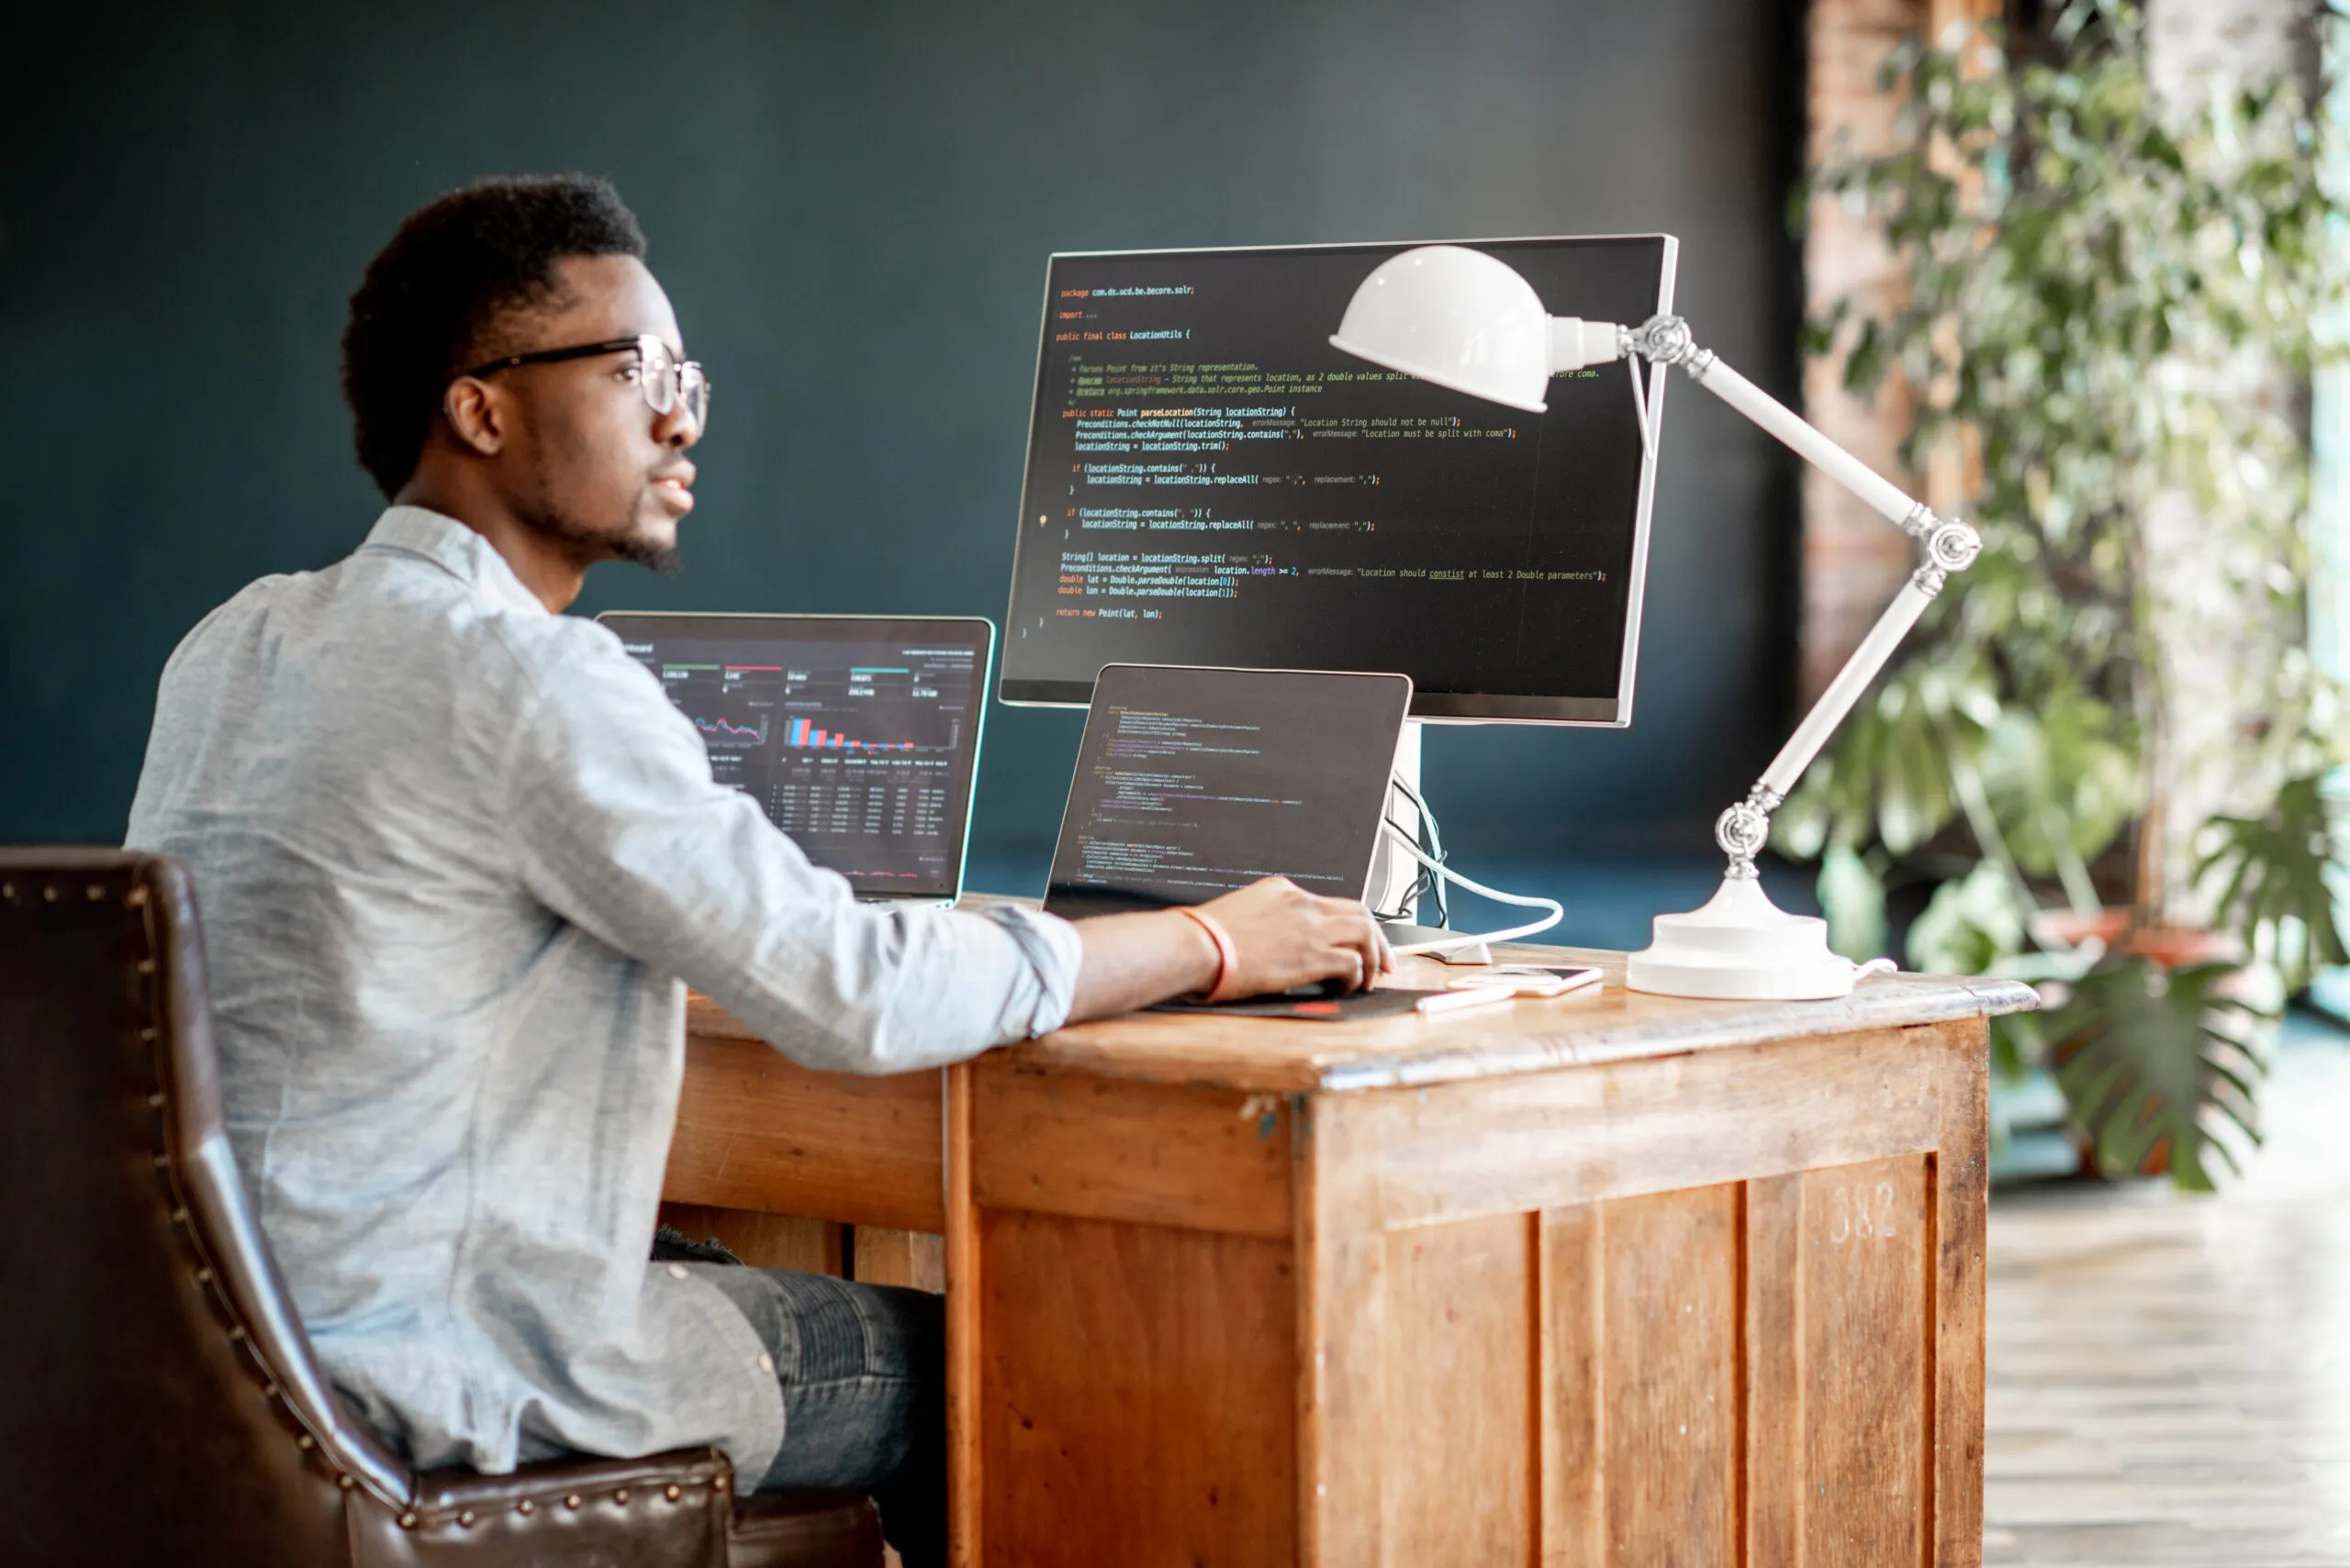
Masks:
[[[1104,664],[1043,906],[1206,904],[1264,876],[1361,899],[1410,676]]]

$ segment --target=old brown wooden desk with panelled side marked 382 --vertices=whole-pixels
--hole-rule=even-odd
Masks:
[[[891,1080],[698,1000],[667,1197],[945,1235],[966,1566],[1976,1563],[1983,1019],[2033,993],[1537,953],[1607,988]]]

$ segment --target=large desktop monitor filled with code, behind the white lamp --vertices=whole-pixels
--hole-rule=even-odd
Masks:
[[[1551,315],[1673,305],[1668,235],[1462,244]],[[1083,704],[1112,662],[1384,669],[1417,718],[1631,723],[1657,477],[1631,373],[1518,413],[1332,347],[1405,249],[1053,256],[1003,702]]]

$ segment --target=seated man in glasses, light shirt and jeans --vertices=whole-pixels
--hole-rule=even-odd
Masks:
[[[618,195],[482,181],[350,300],[392,502],[164,667],[129,843],[195,873],[221,1091],[336,1385],[418,1465],[717,1444],[738,1486],[874,1491],[942,1554],[940,1312],[649,1263],[696,986],[815,1068],[902,1073],[1168,995],[1386,967],[1271,880],[1067,925],[877,911],[710,779],[618,638],[562,610],[663,566],[707,383]]]

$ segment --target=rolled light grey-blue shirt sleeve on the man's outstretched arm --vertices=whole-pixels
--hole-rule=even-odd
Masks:
[[[1020,906],[858,904],[757,803],[604,627],[569,622],[508,765],[524,887],[684,979],[808,1068],[907,1073],[1058,1028],[1076,930]],[[552,671],[550,671],[552,674]]]

